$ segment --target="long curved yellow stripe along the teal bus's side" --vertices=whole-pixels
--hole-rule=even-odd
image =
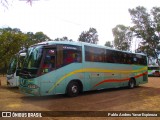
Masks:
[[[104,73],[110,73],[110,72],[114,72],[114,73],[136,73],[136,72],[141,72],[143,70],[147,70],[147,67],[143,67],[137,70],[106,70],[106,69],[98,69],[98,68],[85,68],[85,69],[79,69],[79,70],[75,70],[72,71],[66,75],[64,75],[63,77],[61,77],[59,80],[57,80],[57,82],[48,90],[48,93],[50,93],[53,89],[55,89],[55,87],[61,83],[65,78],[73,75],[73,74],[77,74],[77,73],[82,73],[82,72],[104,72]]]

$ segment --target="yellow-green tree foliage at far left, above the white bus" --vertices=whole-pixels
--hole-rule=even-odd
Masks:
[[[38,42],[50,40],[43,32],[23,33],[18,28],[0,29],[0,70],[7,69],[10,58],[20,50]]]

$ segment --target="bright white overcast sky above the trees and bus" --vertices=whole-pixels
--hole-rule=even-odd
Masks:
[[[51,39],[67,36],[77,41],[89,28],[96,28],[100,45],[113,41],[112,29],[131,26],[128,9],[143,6],[148,11],[160,7],[159,0],[8,0],[0,6],[0,28],[19,28],[22,32],[42,31]]]

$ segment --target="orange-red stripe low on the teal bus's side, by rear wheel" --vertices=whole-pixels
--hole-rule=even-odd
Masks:
[[[137,75],[137,76],[135,76],[135,78],[144,76],[145,74],[147,74],[147,72],[142,73],[142,74],[140,74],[140,75]],[[95,87],[97,87],[97,86],[99,86],[99,85],[101,85],[101,84],[103,84],[103,83],[106,83],[106,82],[123,82],[123,81],[129,81],[129,80],[130,80],[130,78],[125,78],[125,79],[121,79],[121,80],[118,80],[118,79],[103,80],[103,81],[97,83],[93,88],[95,88]]]

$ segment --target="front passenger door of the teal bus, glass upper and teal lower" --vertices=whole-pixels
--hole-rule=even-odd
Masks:
[[[39,71],[41,75],[41,95],[50,94],[49,90],[56,80],[56,49],[45,48],[41,61],[41,68]]]

